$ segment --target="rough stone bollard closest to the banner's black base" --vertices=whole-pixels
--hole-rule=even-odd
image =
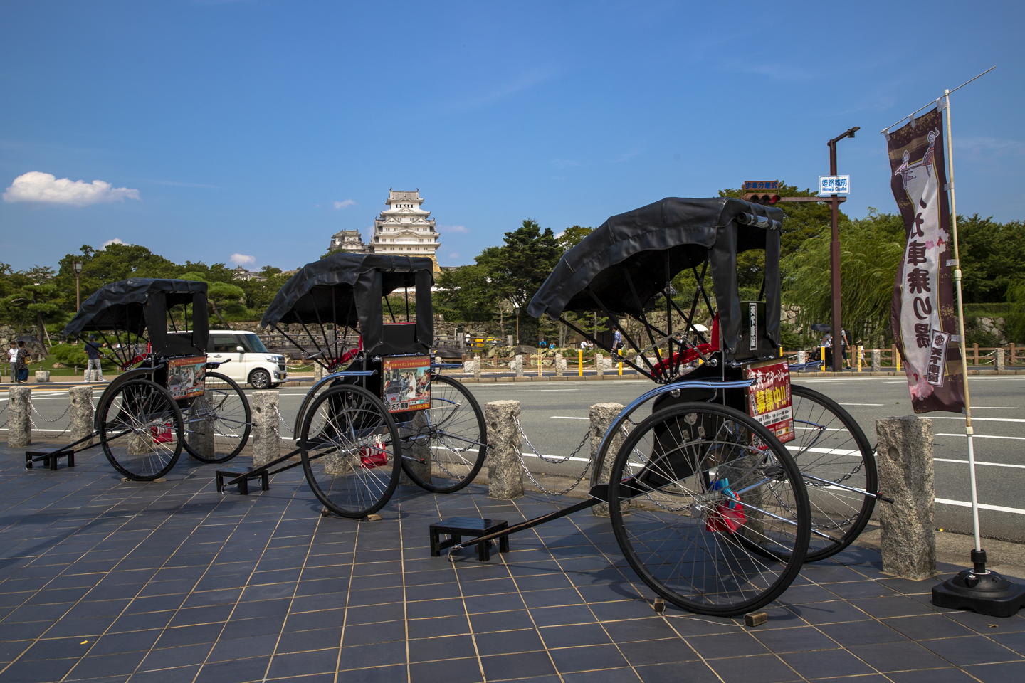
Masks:
[[[883,570],[920,581],[936,573],[933,421],[908,415],[875,421]]]

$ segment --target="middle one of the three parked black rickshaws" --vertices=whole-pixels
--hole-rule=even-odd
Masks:
[[[266,488],[271,475],[301,464],[325,514],[359,519],[388,502],[402,472],[443,494],[474,480],[488,449],[484,412],[438,372],[460,366],[433,361],[433,269],[429,258],[337,253],[281,288],[261,326],[325,375],[295,417],[297,447],[218,472],[218,490],[245,493],[257,478]]]

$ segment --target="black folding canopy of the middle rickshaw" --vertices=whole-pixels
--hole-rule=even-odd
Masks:
[[[426,257],[381,254],[332,254],[304,266],[285,283],[271,302],[260,326],[359,325],[371,354],[426,353],[434,344],[430,286],[434,261]],[[414,348],[397,348],[384,339],[381,298],[399,289],[416,293]]]

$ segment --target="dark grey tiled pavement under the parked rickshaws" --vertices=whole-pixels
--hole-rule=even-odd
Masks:
[[[806,566],[746,629],[656,614],[588,512],[487,564],[429,557],[442,517],[511,523],[568,499],[402,487],[357,522],[321,516],[301,468],[242,497],[187,457],[149,484],[121,482],[98,449],[56,472],[0,458],[0,683],[1025,680],[1022,613],[936,608],[934,580],[887,578],[870,550]]]

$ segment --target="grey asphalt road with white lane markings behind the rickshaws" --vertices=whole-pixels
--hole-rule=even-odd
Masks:
[[[975,422],[975,456],[980,518],[985,536],[1025,543],[1025,377],[972,377],[971,393]],[[807,379],[806,384],[843,404],[875,443],[875,420],[911,414],[907,383],[896,377]],[[627,404],[653,385],[647,380],[604,382],[467,384],[483,404],[490,400],[515,399],[521,403],[521,423],[538,452],[567,456],[587,431],[588,408],[598,402]],[[306,387],[282,388],[281,413],[291,423]],[[97,391],[98,397],[98,391]],[[2,404],[6,396],[2,396]],[[68,418],[57,419],[68,407],[67,391],[36,390],[33,402],[45,420],[38,427],[59,431]],[[963,418],[937,413],[934,420],[937,526],[971,532],[968,450]],[[0,422],[5,418],[0,417]],[[282,430],[288,435],[287,429]],[[525,446],[525,453],[529,446]],[[542,464],[537,469],[551,474],[577,476],[589,455],[584,444],[578,458],[564,465]],[[532,468],[533,469],[533,468]]]

